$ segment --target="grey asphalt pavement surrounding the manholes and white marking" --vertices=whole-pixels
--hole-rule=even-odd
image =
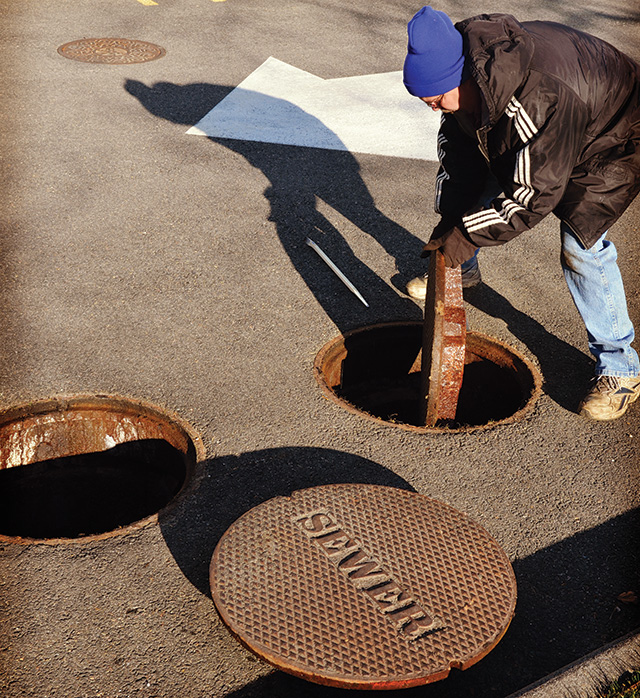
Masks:
[[[206,447],[157,523],[106,540],[0,546],[3,696],[344,693],[256,659],[208,586],[215,544],[241,514],[330,483],[447,502],[513,564],[516,615],[496,649],[399,695],[505,698],[640,626],[637,603],[620,600],[640,592],[640,405],[610,424],[576,414],[593,363],[562,278],[558,222],[482,251],[484,284],[466,294],[470,329],[540,370],[535,409],[492,429],[412,433],[326,400],[312,368],[344,331],[420,320],[401,289],[424,270],[436,164],[186,133],[269,57],[328,81],[400,70],[419,4],[0,7],[1,406],[126,395],[177,413]],[[508,11],[560,21],[640,59],[640,14],[627,0],[438,9],[454,20]],[[89,37],[144,40],[166,55],[104,65],[57,52]],[[639,215],[636,201],[610,234],[636,327]]]

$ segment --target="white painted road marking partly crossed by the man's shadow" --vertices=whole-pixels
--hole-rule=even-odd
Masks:
[[[437,161],[439,125],[401,71],[323,80],[268,58],[187,133]]]

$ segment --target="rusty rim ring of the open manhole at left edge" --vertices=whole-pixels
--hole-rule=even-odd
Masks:
[[[27,416],[45,415],[53,412],[74,411],[78,409],[92,410],[112,410],[120,409],[135,412],[136,408],[141,414],[148,414],[160,421],[167,422],[178,431],[183,432],[187,439],[190,450],[193,448],[193,457],[185,454],[185,477],[180,489],[173,495],[167,504],[158,511],[146,516],[138,521],[120,526],[111,531],[81,535],[75,538],[31,538],[28,536],[9,536],[0,533],[0,543],[11,543],[17,545],[60,545],[60,544],[84,544],[94,541],[107,540],[124,536],[139,531],[147,526],[157,524],[160,517],[170,513],[182,499],[187,489],[192,486],[195,479],[196,467],[206,458],[206,447],[200,434],[194,427],[183,419],[179,414],[161,407],[155,403],[141,398],[130,397],[114,393],[61,393],[51,395],[46,398],[27,401],[18,405],[0,407],[0,425],[11,421],[19,421]],[[14,466],[21,467],[21,466]]]

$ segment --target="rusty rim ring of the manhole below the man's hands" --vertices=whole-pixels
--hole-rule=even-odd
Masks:
[[[484,340],[486,342],[490,342],[491,344],[494,344],[496,347],[499,349],[502,349],[505,352],[508,352],[512,354],[518,361],[522,362],[524,367],[529,371],[531,374],[531,379],[533,383],[533,387],[531,390],[531,395],[525,402],[525,404],[520,407],[516,412],[513,414],[509,415],[508,417],[505,417],[500,420],[496,421],[490,421],[486,424],[467,424],[467,425],[461,425],[459,427],[449,427],[449,426],[433,426],[433,427],[426,427],[426,426],[417,426],[415,424],[406,424],[403,422],[393,422],[388,419],[383,419],[382,417],[377,417],[376,415],[373,415],[369,412],[367,412],[364,409],[359,408],[357,405],[354,405],[353,403],[349,402],[348,400],[336,395],[334,390],[331,388],[331,386],[328,384],[328,382],[325,380],[324,373],[322,370],[322,366],[325,362],[325,359],[329,352],[336,347],[339,346],[340,344],[343,344],[347,339],[350,337],[353,337],[355,335],[363,334],[365,332],[371,331],[371,330],[376,330],[376,329],[390,329],[393,327],[419,327],[422,328],[424,323],[420,320],[408,320],[408,321],[402,321],[402,320],[396,320],[392,322],[381,322],[381,323],[376,323],[373,325],[365,325],[364,327],[358,327],[352,330],[348,330],[347,332],[344,332],[343,334],[338,335],[337,337],[334,337],[333,339],[329,340],[323,347],[320,349],[318,354],[316,355],[316,358],[313,362],[313,373],[316,378],[316,381],[318,385],[320,386],[320,389],[322,390],[323,395],[330,400],[331,402],[336,403],[343,409],[345,409],[347,412],[350,412],[351,414],[357,414],[361,417],[365,417],[369,421],[374,421],[377,422],[378,424],[384,424],[385,426],[389,427],[395,427],[396,429],[403,429],[404,431],[410,431],[415,434],[430,434],[430,433],[451,433],[451,434],[458,434],[458,433],[468,433],[468,432],[475,432],[475,431],[483,431],[487,429],[494,429],[495,427],[507,425],[507,424],[513,424],[514,422],[519,422],[523,420],[525,417],[527,417],[531,412],[533,412],[536,403],[538,402],[538,399],[540,398],[540,395],[542,394],[542,383],[543,383],[543,378],[542,375],[539,371],[539,369],[533,364],[532,361],[530,361],[526,356],[524,356],[520,351],[515,349],[514,347],[506,344],[505,342],[502,342],[498,339],[495,339],[494,337],[490,337],[489,335],[483,334],[482,332],[472,332],[468,331],[467,332],[467,341],[471,340],[473,342],[474,339],[478,340]]]

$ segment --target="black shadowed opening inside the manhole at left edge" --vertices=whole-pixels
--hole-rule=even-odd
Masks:
[[[186,470],[182,453],[160,439],[6,468],[0,532],[77,538],[127,526],[171,501]]]

